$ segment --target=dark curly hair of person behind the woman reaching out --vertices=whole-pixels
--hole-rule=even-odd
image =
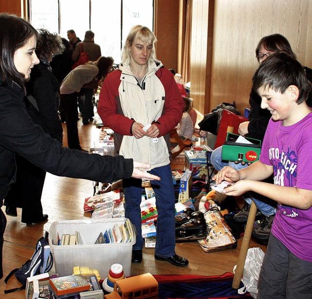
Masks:
[[[51,33],[46,29],[38,29],[39,38],[37,40],[36,54],[38,58],[49,58],[52,55],[61,54],[65,50],[59,34]]]

